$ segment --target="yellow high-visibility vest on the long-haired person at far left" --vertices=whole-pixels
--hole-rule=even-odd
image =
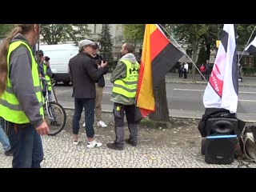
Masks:
[[[20,45],[26,46],[26,48],[30,51],[30,58],[32,60],[31,74],[32,74],[32,80],[34,85],[34,92],[38,98],[38,102],[41,105],[38,113],[42,115],[42,118],[44,118],[44,111],[42,106],[43,105],[42,88],[40,86],[41,81],[38,77],[38,65],[34,60],[34,56],[32,54],[32,50],[30,46],[28,46],[26,42],[18,41],[18,42],[10,43],[9,50],[7,53],[7,74],[9,74],[9,68],[10,68],[10,54],[15,49],[17,49],[18,46]],[[22,65],[22,63],[20,64]],[[30,122],[29,118],[27,118],[26,114],[22,110],[22,106],[20,106],[20,103],[18,102],[18,98],[14,94],[14,90],[10,83],[9,75],[7,75],[7,79],[6,79],[6,90],[0,96],[0,117],[4,118],[8,122],[14,122],[16,124],[23,124],[23,123]]]

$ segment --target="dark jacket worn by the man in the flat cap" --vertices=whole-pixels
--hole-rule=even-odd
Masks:
[[[70,58],[70,78],[73,86],[74,98],[95,98],[95,82],[102,74],[106,73],[105,68],[97,69],[89,54],[79,53]]]

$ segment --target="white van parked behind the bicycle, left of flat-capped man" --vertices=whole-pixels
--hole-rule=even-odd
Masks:
[[[42,45],[39,46],[44,56],[50,58],[50,68],[54,73],[56,82],[70,83],[69,61],[78,54],[78,45],[75,44],[59,44],[59,45]]]

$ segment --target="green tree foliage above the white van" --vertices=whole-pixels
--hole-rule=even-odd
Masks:
[[[48,45],[58,44],[58,42],[74,41],[90,34],[86,24],[42,24],[42,42]]]

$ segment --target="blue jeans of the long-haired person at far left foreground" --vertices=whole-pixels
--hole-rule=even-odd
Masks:
[[[12,122],[8,124],[8,137],[13,152],[14,168],[40,168],[43,159],[42,140],[30,123],[17,125],[17,132]]]

